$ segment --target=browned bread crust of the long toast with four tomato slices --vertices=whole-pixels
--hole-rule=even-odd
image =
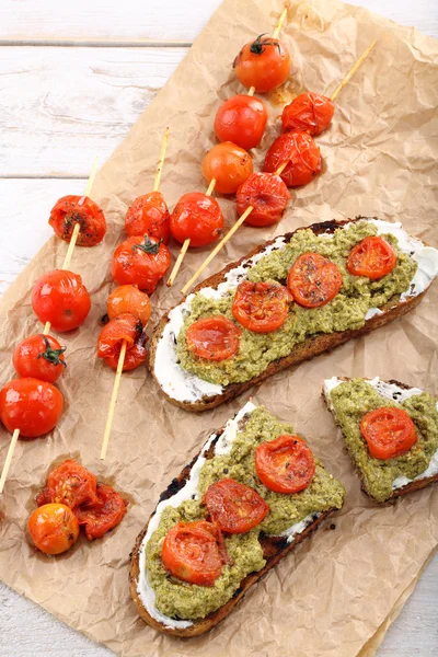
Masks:
[[[303,230],[306,228],[310,228],[315,234],[334,232],[337,228],[339,228],[342,226],[345,226],[347,223],[351,223],[355,221],[360,221],[361,219],[364,219],[364,218],[357,217],[356,219],[350,219],[350,220],[346,220],[346,221],[324,221],[321,223],[313,223],[312,226],[309,226],[309,227],[298,228],[296,231],[286,233],[283,237],[285,238],[286,241],[289,241],[291,239],[291,237],[298,230]],[[265,249],[269,244],[273,244],[275,242],[275,240],[277,240],[277,239],[278,239],[278,237],[275,238],[274,240],[270,240],[269,242],[266,242],[266,243],[257,246],[256,249],[251,251],[247,255],[244,255],[242,258],[240,258],[240,261],[230,263],[229,265],[227,265],[227,267],[224,267],[223,269],[221,269],[214,276],[210,276],[209,278],[207,278],[199,285],[197,285],[191,293],[197,292],[205,287],[211,287],[211,288],[216,289],[219,286],[219,284],[224,280],[226,274],[230,269],[234,269],[235,267],[241,265],[242,262],[244,262],[245,260],[260,253],[263,249]],[[349,339],[353,339],[354,337],[359,337],[360,335],[366,335],[367,333],[374,331],[379,326],[383,326],[384,324],[388,324],[389,322],[392,322],[393,320],[401,318],[402,315],[406,314],[410,310],[415,308],[415,306],[417,306],[417,303],[419,303],[419,301],[422,300],[422,298],[424,297],[426,291],[427,290],[425,290],[420,295],[417,295],[416,297],[410,298],[407,301],[400,301],[399,298],[394,298],[393,300],[389,301],[384,307],[382,307],[380,309],[382,311],[381,313],[376,314],[370,320],[367,320],[365,322],[365,325],[361,326],[360,328],[356,328],[356,330],[351,330],[351,331],[338,331],[338,332],[328,333],[328,334],[321,334],[315,337],[309,338],[309,339],[304,341],[299,347],[295,348],[293,351],[291,351],[288,356],[285,356],[284,358],[279,358],[278,360],[270,362],[268,365],[268,367],[263,372],[261,372],[258,376],[253,377],[252,379],[250,379],[249,381],[245,381],[244,383],[232,383],[230,385],[227,385],[223,389],[223,392],[221,394],[203,397],[201,400],[196,401],[196,402],[180,402],[180,401],[173,399],[172,396],[168,395],[162,390],[160,382],[158,381],[155,373],[154,373],[157,345],[158,345],[159,341],[161,339],[164,326],[166,325],[166,323],[169,321],[169,312],[170,311],[168,311],[168,313],[165,313],[165,315],[161,319],[161,321],[159,322],[159,324],[155,326],[155,328],[153,331],[151,347],[150,347],[150,355],[149,355],[149,369],[152,373],[152,377],[155,379],[155,381],[160,388],[160,391],[166,397],[166,400],[169,402],[171,402],[171,404],[178,406],[180,408],[184,408],[185,411],[189,411],[192,413],[203,413],[204,411],[215,408],[216,406],[219,406],[220,404],[223,404],[223,403],[237,397],[238,395],[242,394],[243,392],[245,392],[253,385],[257,385],[258,383],[262,383],[262,381],[265,381],[269,377],[274,376],[275,373],[281,371],[283,369],[285,369],[287,367],[290,367],[292,365],[298,365],[299,362],[302,362],[303,360],[309,360],[310,358],[313,358],[314,356],[318,356],[318,355],[322,354],[323,351],[330,351],[330,350],[334,349],[335,347],[348,342]],[[184,297],[180,301],[180,303],[183,303],[186,298],[187,297]],[[176,306],[180,306],[180,303],[177,303]]]

